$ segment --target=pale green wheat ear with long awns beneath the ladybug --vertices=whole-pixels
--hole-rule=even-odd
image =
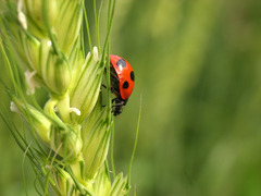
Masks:
[[[115,176],[113,143],[112,180],[107,161],[114,124],[108,58],[115,0],[108,2],[108,32],[102,49],[101,7],[97,15],[96,0],[98,46],[94,48],[84,0],[7,0],[0,2],[0,48],[12,86],[2,81],[1,85],[10,96],[11,110],[27,124],[32,140],[4,115],[1,119],[32,161],[41,187],[39,194],[127,195],[137,136],[127,176]],[[103,108],[100,88],[104,66],[108,91]],[[38,103],[36,88],[49,95],[44,107]]]

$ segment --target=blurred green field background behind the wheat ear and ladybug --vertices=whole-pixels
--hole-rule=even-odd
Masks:
[[[136,86],[115,120],[115,167],[127,173],[141,95],[138,196],[261,195],[260,9],[260,0],[117,0],[111,53],[128,60]],[[24,195],[23,154],[0,127],[0,195]]]

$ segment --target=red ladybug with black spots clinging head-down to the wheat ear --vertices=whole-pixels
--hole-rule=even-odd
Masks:
[[[110,56],[111,91],[116,96],[112,100],[113,115],[119,115],[127,103],[134,88],[134,71],[130,64],[119,56]]]

